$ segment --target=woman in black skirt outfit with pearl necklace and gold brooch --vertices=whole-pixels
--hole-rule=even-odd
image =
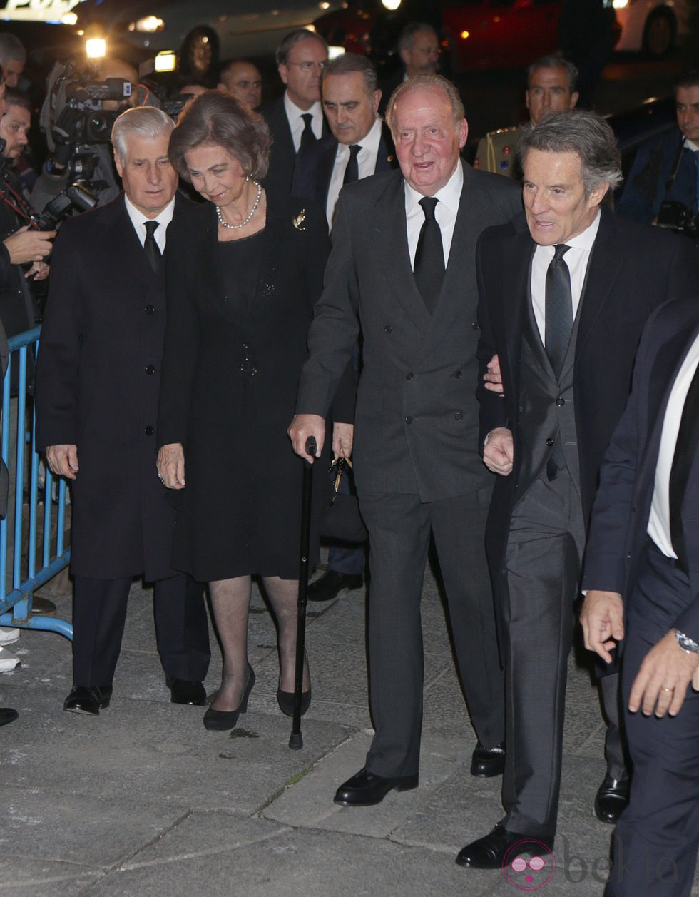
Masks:
[[[293,706],[302,465],[286,428],[329,244],[320,209],[260,187],[269,147],[263,119],[219,91],[191,103],[169,147],[208,202],[168,231],[158,471],[179,490],[173,564],[210,585],[224,666],[203,723],[216,729],[255,683],[254,574],[277,621],[280,708]],[[310,695],[306,667],[302,708]]]

